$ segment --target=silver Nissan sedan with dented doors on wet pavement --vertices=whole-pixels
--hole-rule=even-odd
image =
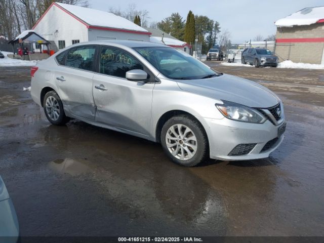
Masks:
[[[52,124],[73,117],[160,142],[183,166],[268,157],[284,137],[274,93],[164,45],[75,44],[38,62],[31,76],[31,96]]]

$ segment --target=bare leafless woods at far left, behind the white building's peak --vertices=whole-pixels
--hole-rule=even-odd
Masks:
[[[0,0],[0,35],[9,40],[31,29],[53,2],[88,7],[88,0]]]

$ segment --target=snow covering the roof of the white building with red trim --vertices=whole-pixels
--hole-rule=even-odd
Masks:
[[[69,4],[55,4],[59,5],[63,9],[67,10],[68,12],[70,12],[71,14],[73,14],[74,16],[76,16],[80,20],[83,20],[91,26],[134,30],[149,33],[146,29],[142,28],[141,26],[134,24],[133,22],[123,17],[114,15],[112,13]]]

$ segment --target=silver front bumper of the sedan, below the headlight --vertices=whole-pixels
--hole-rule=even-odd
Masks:
[[[284,139],[284,135],[278,137],[278,128],[285,124],[284,118],[280,120],[278,126],[273,125],[269,120],[266,120],[263,124],[244,123],[225,117],[222,119],[202,118],[202,120],[209,139],[210,157],[213,159],[247,160],[266,158]],[[269,142],[271,140],[274,142]],[[247,154],[229,155],[240,144],[255,145]],[[264,149],[266,144],[267,146],[271,144],[271,146]]]

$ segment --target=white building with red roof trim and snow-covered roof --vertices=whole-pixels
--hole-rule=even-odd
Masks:
[[[32,28],[58,49],[79,42],[124,39],[149,42],[150,32],[112,13],[53,3]]]

